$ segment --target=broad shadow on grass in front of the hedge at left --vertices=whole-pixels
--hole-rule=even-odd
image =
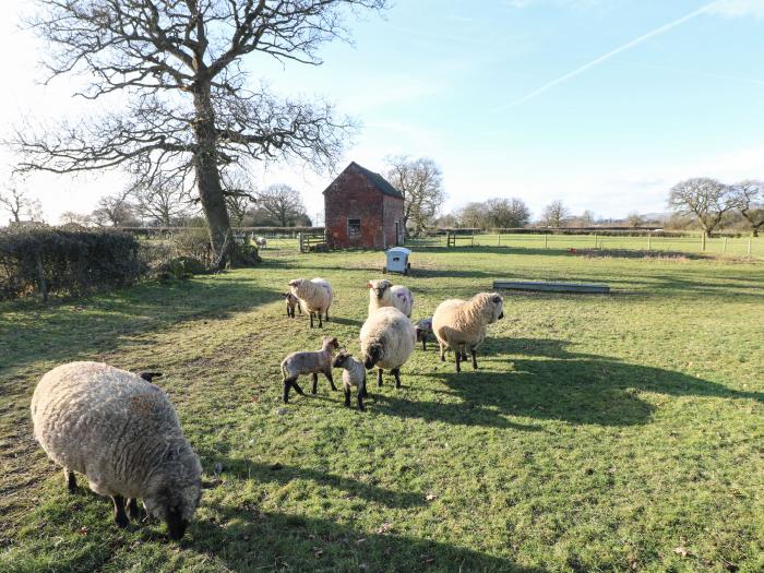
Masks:
[[[136,335],[198,319],[229,318],[280,299],[280,295],[234,275],[134,287],[48,306],[3,306],[0,369],[46,360],[95,358]]]

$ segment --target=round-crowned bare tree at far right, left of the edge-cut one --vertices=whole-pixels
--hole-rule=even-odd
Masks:
[[[706,237],[711,237],[724,214],[735,208],[737,203],[728,186],[701,177],[673,186],[668,204],[683,215],[697,217]]]

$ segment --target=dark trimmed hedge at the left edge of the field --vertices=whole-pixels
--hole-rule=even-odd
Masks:
[[[139,242],[127,232],[45,225],[0,230],[0,299],[121,287],[142,271]]]

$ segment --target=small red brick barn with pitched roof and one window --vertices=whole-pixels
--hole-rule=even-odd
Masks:
[[[324,190],[329,244],[387,249],[403,244],[403,194],[356,162]]]

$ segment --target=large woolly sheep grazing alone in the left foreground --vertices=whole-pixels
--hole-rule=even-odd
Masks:
[[[138,521],[142,498],[170,538],[183,536],[201,499],[202,466],[158,386],[102,362],[70,362],[43,377],[31,409],[35,439],[63,467],[70,491],[74,471],[84,474],[93,491],[111,498],[119,527],[128,515]]]

